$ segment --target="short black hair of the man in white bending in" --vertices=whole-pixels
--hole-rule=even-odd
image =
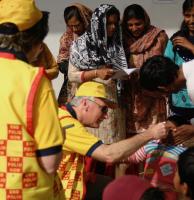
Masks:
[[[140,68],[140,84],[147,90],[157,90],[158,86],[168,86],[178,76],[179,66],[164,56],[149,58]]]

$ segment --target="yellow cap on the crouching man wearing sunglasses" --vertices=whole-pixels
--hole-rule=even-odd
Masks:
[[[97,97],[103,99],[108,107],[116,108],[117,104],[107,97],[106,89],[103,83],[88,81],[80,85],[75,96]]]

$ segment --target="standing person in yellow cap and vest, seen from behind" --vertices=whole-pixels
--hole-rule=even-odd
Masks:
[[[0,0],[2,200],[53,200],[59,193],[54,178],[63,135],[56,100],[44,69],[28,64],[33,34],[44,38],[47,26],[33,0]]]

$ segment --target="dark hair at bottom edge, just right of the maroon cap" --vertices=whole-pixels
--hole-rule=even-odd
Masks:
[[[141,196],[140,200],[165,200],[165,194],[159,188],[148,188],[143,195]]]

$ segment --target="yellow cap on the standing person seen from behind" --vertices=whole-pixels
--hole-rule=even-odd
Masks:
[[[0,0],[0,24],[14,23],[19,31],[31,28],[42,18],[34,0]]]

